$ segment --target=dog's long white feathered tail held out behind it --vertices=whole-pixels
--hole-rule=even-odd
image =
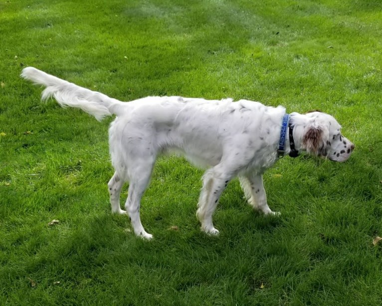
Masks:
[[[24,68],[21,77],[46,86],[41,94],[42,100],[54,97],[62,107],[80,108],[99,121],[106,116],[122,114],[125,103],[100,92],[69,83],[34,67]]]

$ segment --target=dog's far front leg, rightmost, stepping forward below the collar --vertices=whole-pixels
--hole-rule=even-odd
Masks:
[[[264,214],[278,215],[273,212],[267,203],[267,195],[264,189],[263,176],[261,174],[251,173],[239,178],[241,187],[244,191],[248,203],[256,210]]]

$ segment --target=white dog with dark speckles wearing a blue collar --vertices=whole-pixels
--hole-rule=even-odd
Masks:
[[[161,153],[177,152],[203,175],[197,217],[201,230],[217,235],[212,214],[228,182],[239,177],[248,202],[264,214],[268,207],[263,173],[286,154],[306,151],[333,161],[345,161],[354,144],[341,135],[341,126],[322,112],[285,114],[285,108],[232,99],[146,97],[128,103],[82,88],[33,67],[21,76],[46,86],[42,99],[53,96],[61,106],[78,107],[97,120],[116,115],[109,129],[115,173],[108,183],[114,213],[128,214],[136,235],[151,239],[140,220],[141,197]],[[290,120],[289,120],[290,119]],[[123,184],[129,195],[122,210]]]

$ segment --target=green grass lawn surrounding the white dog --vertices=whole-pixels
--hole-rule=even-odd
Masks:
[[[380,305],[381,3],[1,1],[0,304]],[[195,217],[202,171],[161,158],[141,210],[155,240],[143,241],[110,213],[111,119],[40,103],[19,78],[27,65],[126,101],[321,109],[356,150],[343,164],[284,158],[270,169],[279,218],[253,212],[231,182],[219,237]]]

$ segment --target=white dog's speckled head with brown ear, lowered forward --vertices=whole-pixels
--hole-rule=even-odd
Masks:
[[[354,150],[354,144],[342,136],[337,120],[318,111],[305,116],[308,117],[308,124],[304,128],[301,148],[332,161],[346,161]]]

